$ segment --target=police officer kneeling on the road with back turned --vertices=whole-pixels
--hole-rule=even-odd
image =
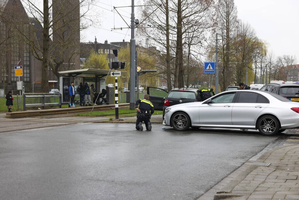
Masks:
[[[139,108],[138,108],[139,104]],[[154,105],[149,101],[149,95],[145,94],[144,99],[138,99],[135,103],[135,108],[137,110],[137,120],[136,129],[143,130],[142,121],[145,123],[145,127],[148,131],[152,130],[152,125],[149,121],[152,113],[154,113]],[[150,113],[149,113],[150,112]]]

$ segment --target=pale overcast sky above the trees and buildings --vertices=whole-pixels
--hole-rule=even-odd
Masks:
[[[94,41],[104,43],[105,40],[118,42],[125,39],[130,41],[131,30],[110,31],[111,28],[126,27],[126,23],[117,13],[111,12],[113,6],[130,6],[131,0],[96,0],[94,9],[103,10],[100,14],[102,21],[100,28],[89,28],[83,31],[83,41]],[[137,0],[136,0],[137,2]],[[137,3],[135,3],[137,4]],[[299,62],[298,48],[298,19],[299,19],[299,0],[235,0],[239,19],[248,22],[256,31],[257,36],[268,43],[269,51],[273,51],[275,56],[283,54],[295,55]],[[107,10],[106,10],[107,9]],[[138,11],[139,7],[135,7]],[[118,11],[123,18],[130,24],[131,7],[119,8]],[[136,19],[140,19],[138,12]],[[104,30],[107,29],[107,30]]]

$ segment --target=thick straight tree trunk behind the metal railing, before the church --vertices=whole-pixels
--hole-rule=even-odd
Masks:
[[[42,92],[49,92],[49,0],[44,0],[43,20],[43,57],[42,57]]]

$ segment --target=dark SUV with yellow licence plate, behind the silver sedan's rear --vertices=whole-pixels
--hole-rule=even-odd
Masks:
[[[293,83],[269,83],[260,90],[276,93],[291,101],[299,102],[299,84]]]

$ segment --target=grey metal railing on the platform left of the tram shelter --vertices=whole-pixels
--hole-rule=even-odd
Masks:
[[[26,103],[27,98],[32,98],[30,103]],[[34,99],[33,99],[34,98]],[[26,107],[51,107],[59,106],[61,108],[61,94],[53,93],[24,93],[23,94],[23,110],[26,110]],[[59,102],[57,102],[59,99]],[[28,99],[27,99],[28,100]]]

